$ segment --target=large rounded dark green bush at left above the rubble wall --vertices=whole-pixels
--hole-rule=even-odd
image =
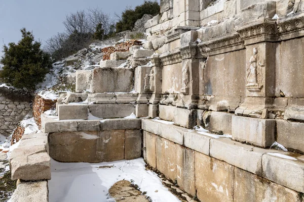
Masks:
[[[34,41],[33,34],[25,28],[20,31],[22,39],[17,44],[4,45],[0,78],[16,88],[34,90],[36,84],[44,80],[52,63],[50,56],[42,51],[41,42]]]

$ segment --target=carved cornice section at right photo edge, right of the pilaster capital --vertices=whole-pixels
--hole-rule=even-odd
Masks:
[[[304,35],[304,13],[298,13],[278,19],[277,24],[277,34],[281,40]]]

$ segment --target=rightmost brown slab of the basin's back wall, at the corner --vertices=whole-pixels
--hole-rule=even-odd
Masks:
[[[126,130],[125,159],[132,160],[141,157],[142,134],[140,130]]]

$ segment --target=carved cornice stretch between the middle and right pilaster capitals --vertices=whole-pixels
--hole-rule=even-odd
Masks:
[[[223,37],[215,38],[210,41],[203,41],[198,44],[199,53],[205,55],[217,55],[226,52],[236,51],[244,48],[244,40],[238,33],[225,35]]]

